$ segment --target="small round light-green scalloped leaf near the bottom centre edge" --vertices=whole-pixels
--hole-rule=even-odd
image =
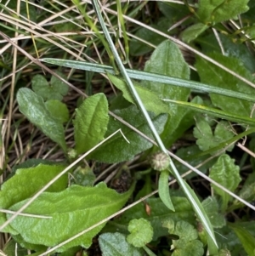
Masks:
[[[153,229],[146,219],[132,219],[127,230],[131,233],[127,236],[127,242],[134,247],[144,247],[152,240]]]

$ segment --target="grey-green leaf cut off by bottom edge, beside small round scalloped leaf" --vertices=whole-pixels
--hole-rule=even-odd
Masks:
[[[126,241],[122,233],[104,233],[99,236],[99,246],[104,256],[142,256],[139,248]]]

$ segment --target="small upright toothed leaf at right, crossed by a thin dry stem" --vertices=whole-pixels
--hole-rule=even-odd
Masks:
[[[222,155],[218,157],[217,162],[212,166],[210,170],[210,178],[223,185],[229,191],[235,191],[241,181],[239,174],[240,168],[235,165],[235,160],[231,159],[229,155]],[[228,207],[230,200],[229,194],[222,191],[220,188],[212,184],[214,191],[222,197],[222,211]]]

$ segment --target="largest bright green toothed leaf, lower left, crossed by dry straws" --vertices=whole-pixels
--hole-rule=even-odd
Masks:
[[[133,189],[118,194],[107,188],[104,183],[95,187],[72,185],[59,193],[44,192],[24,212],[51,216],[52,219],[19,216],[10,225],[26,242],[54,247],[59,242],[64,242],[112,213],[116,213],[127,202],[132,192]],[[10,209],[17,210],[24,203],[26,201],[18,202]],[[7,215],[9,218],[10,215]],[[94,230],[66,243],[57,251],[63,252],[75,246],[88,248],[92,243],[92,238],[104,225],[99,225]]]

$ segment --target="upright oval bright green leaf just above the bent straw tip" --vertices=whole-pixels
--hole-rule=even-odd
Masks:
[[[108,121],[108,102],[105,94],[94,94],[83,101],[76,110],[73,121],[78,154],[90,150],[104,139]]]

